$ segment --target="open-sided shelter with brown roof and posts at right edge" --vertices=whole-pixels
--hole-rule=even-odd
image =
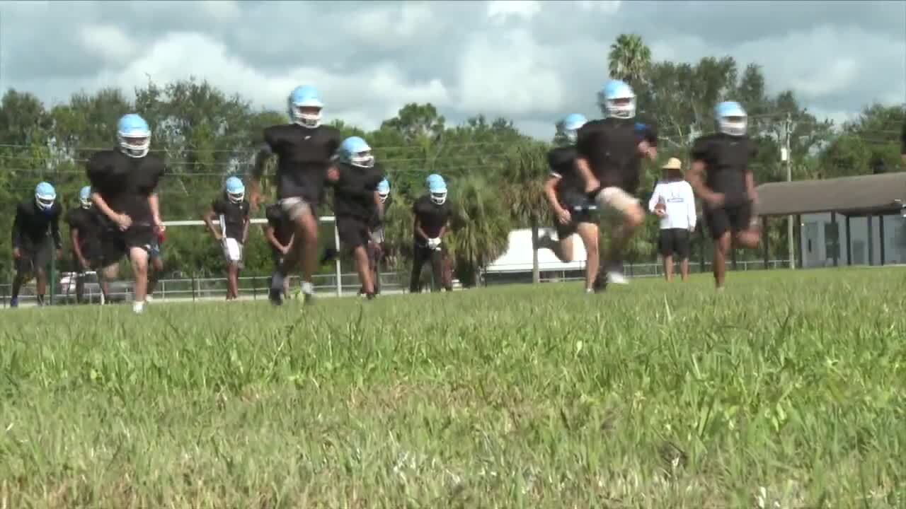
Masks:
[[[906,263],[906,172],[768,182],[757,191],[763,227],[770,216],[795,216],[799,267]]]

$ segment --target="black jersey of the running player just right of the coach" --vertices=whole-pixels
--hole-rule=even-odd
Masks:
[[[692,145],[692,160],[705,163],[705,185],[726,194],[728,205],[743,199],[748,163],[756,153],[755,142],[747,136],[708,134]]]

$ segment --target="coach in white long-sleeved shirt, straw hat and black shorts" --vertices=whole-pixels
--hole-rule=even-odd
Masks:
[[[670,158],[663,167],[665,178],[658,182],[648,209],[660,217],[658,249],[664,262],[664,275],[673,281],[673,255],[679,256],[679,275],[689,277],[689,234],[695,231],[695,195],[683,179],[678,158]]]

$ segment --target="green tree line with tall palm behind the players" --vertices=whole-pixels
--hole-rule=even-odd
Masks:
[[[755,62],[741,67],[731,56],[695,63],[653,62],[651,51],[634,34],[616,39],[603,66],[612,77],[631,83],[638,95],[639,120],[659,131],[662,160],[679,157],[688,164],[692,140],[714,128],[714,104],[732,99],[750,115],[749,133],[759,147],[752,168],[757,183],[786,179],[780,147],[787,129],[791,129],[794,179],[899,168],[901,105],[867,104],[857,120],[834,126],[830,120],[816,118],[793,91],[769,94],[766,76]],[[65,208],[77,206],[78,189],[87,185],[85,161],[92,151],[114,145],[116,122],[130,111],[149,121],[151,149],[167,163],[159,187],[165,220],[200,218],[226,178],[245,176],[261,131],[286,121],[284,111],[257,109],[248,98],[229,95],[195,78],[165,84],[149,81],[134,91],[134,99],[125,91],[108,88],[80,91],[54,105],[44,104],[28,91],[8,90],[0,101],[0,211],[5,212],[5,231],[12,226],[15,204],[31,197],[40,180],[53,183]],[[563,116],[570,112],[564,110]],[[359,135],[368,140],[389,175],[395,202],[388,211],[387,226],[391,269],[409,266],[410,206],[424,192],[424,179],[430,173],[448,180],[455,213],[447,245],[463,283],[474,283],[477,269],[503,254],[510,230],[553,225],[541,185],[547,174],[546,151],[559,141],[559,130],[554,139],[533,139],[516,130],[511,120],[481,115],[454,125],[433,105],[417,103],[403,106],[395,117],[369,132],[342,119],[330,124],[344,137]],[[657,168],[645,168],[642,199],[647,200],[658,177]],[[263,192],[273,199],[274,189],[267,179]],[[329,205],[322,206],[320,213],[332,214]],[[257,216],[264,216],[263,210]],[[645,228],[631,245],[631,262],[656,258],[655,218],[650,217]],[[214,242],[199,242],[204,235],[203,226],[170,228],[162,246],[165,273],[221,274],[219,248]],[[774,251],[771,255],[785,257],[782,220],[769,222],[766,235]],[[250,237],[245,272],[266,274],[271,262],[264,235],[260,228],[252,228]],[[332,245],[333,225],[325,224],[321,237],[323,245]],[[709,241],[697,235],[695,243],[700,242]],[[693,248],[698,250],[697,245]],[[9,241],[0,240],[0,277],[11,274],[10,251]]]

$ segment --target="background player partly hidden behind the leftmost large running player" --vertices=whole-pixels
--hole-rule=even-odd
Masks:
[[[99,270],[110,264],[108,259],[117,256],[104,254],[101,250],[101,233],[105,229],[103,217],[98,214],[92,203],[92,187],[85,186],[79,190],[79,206],[66,215],[69,224],[69,236],[72,241],[73,269],[76,273],[75,300],[82,303],[85,293],[85,272]],[[107,301],[107,281],[98,274],[101,285],[101,304]]]

